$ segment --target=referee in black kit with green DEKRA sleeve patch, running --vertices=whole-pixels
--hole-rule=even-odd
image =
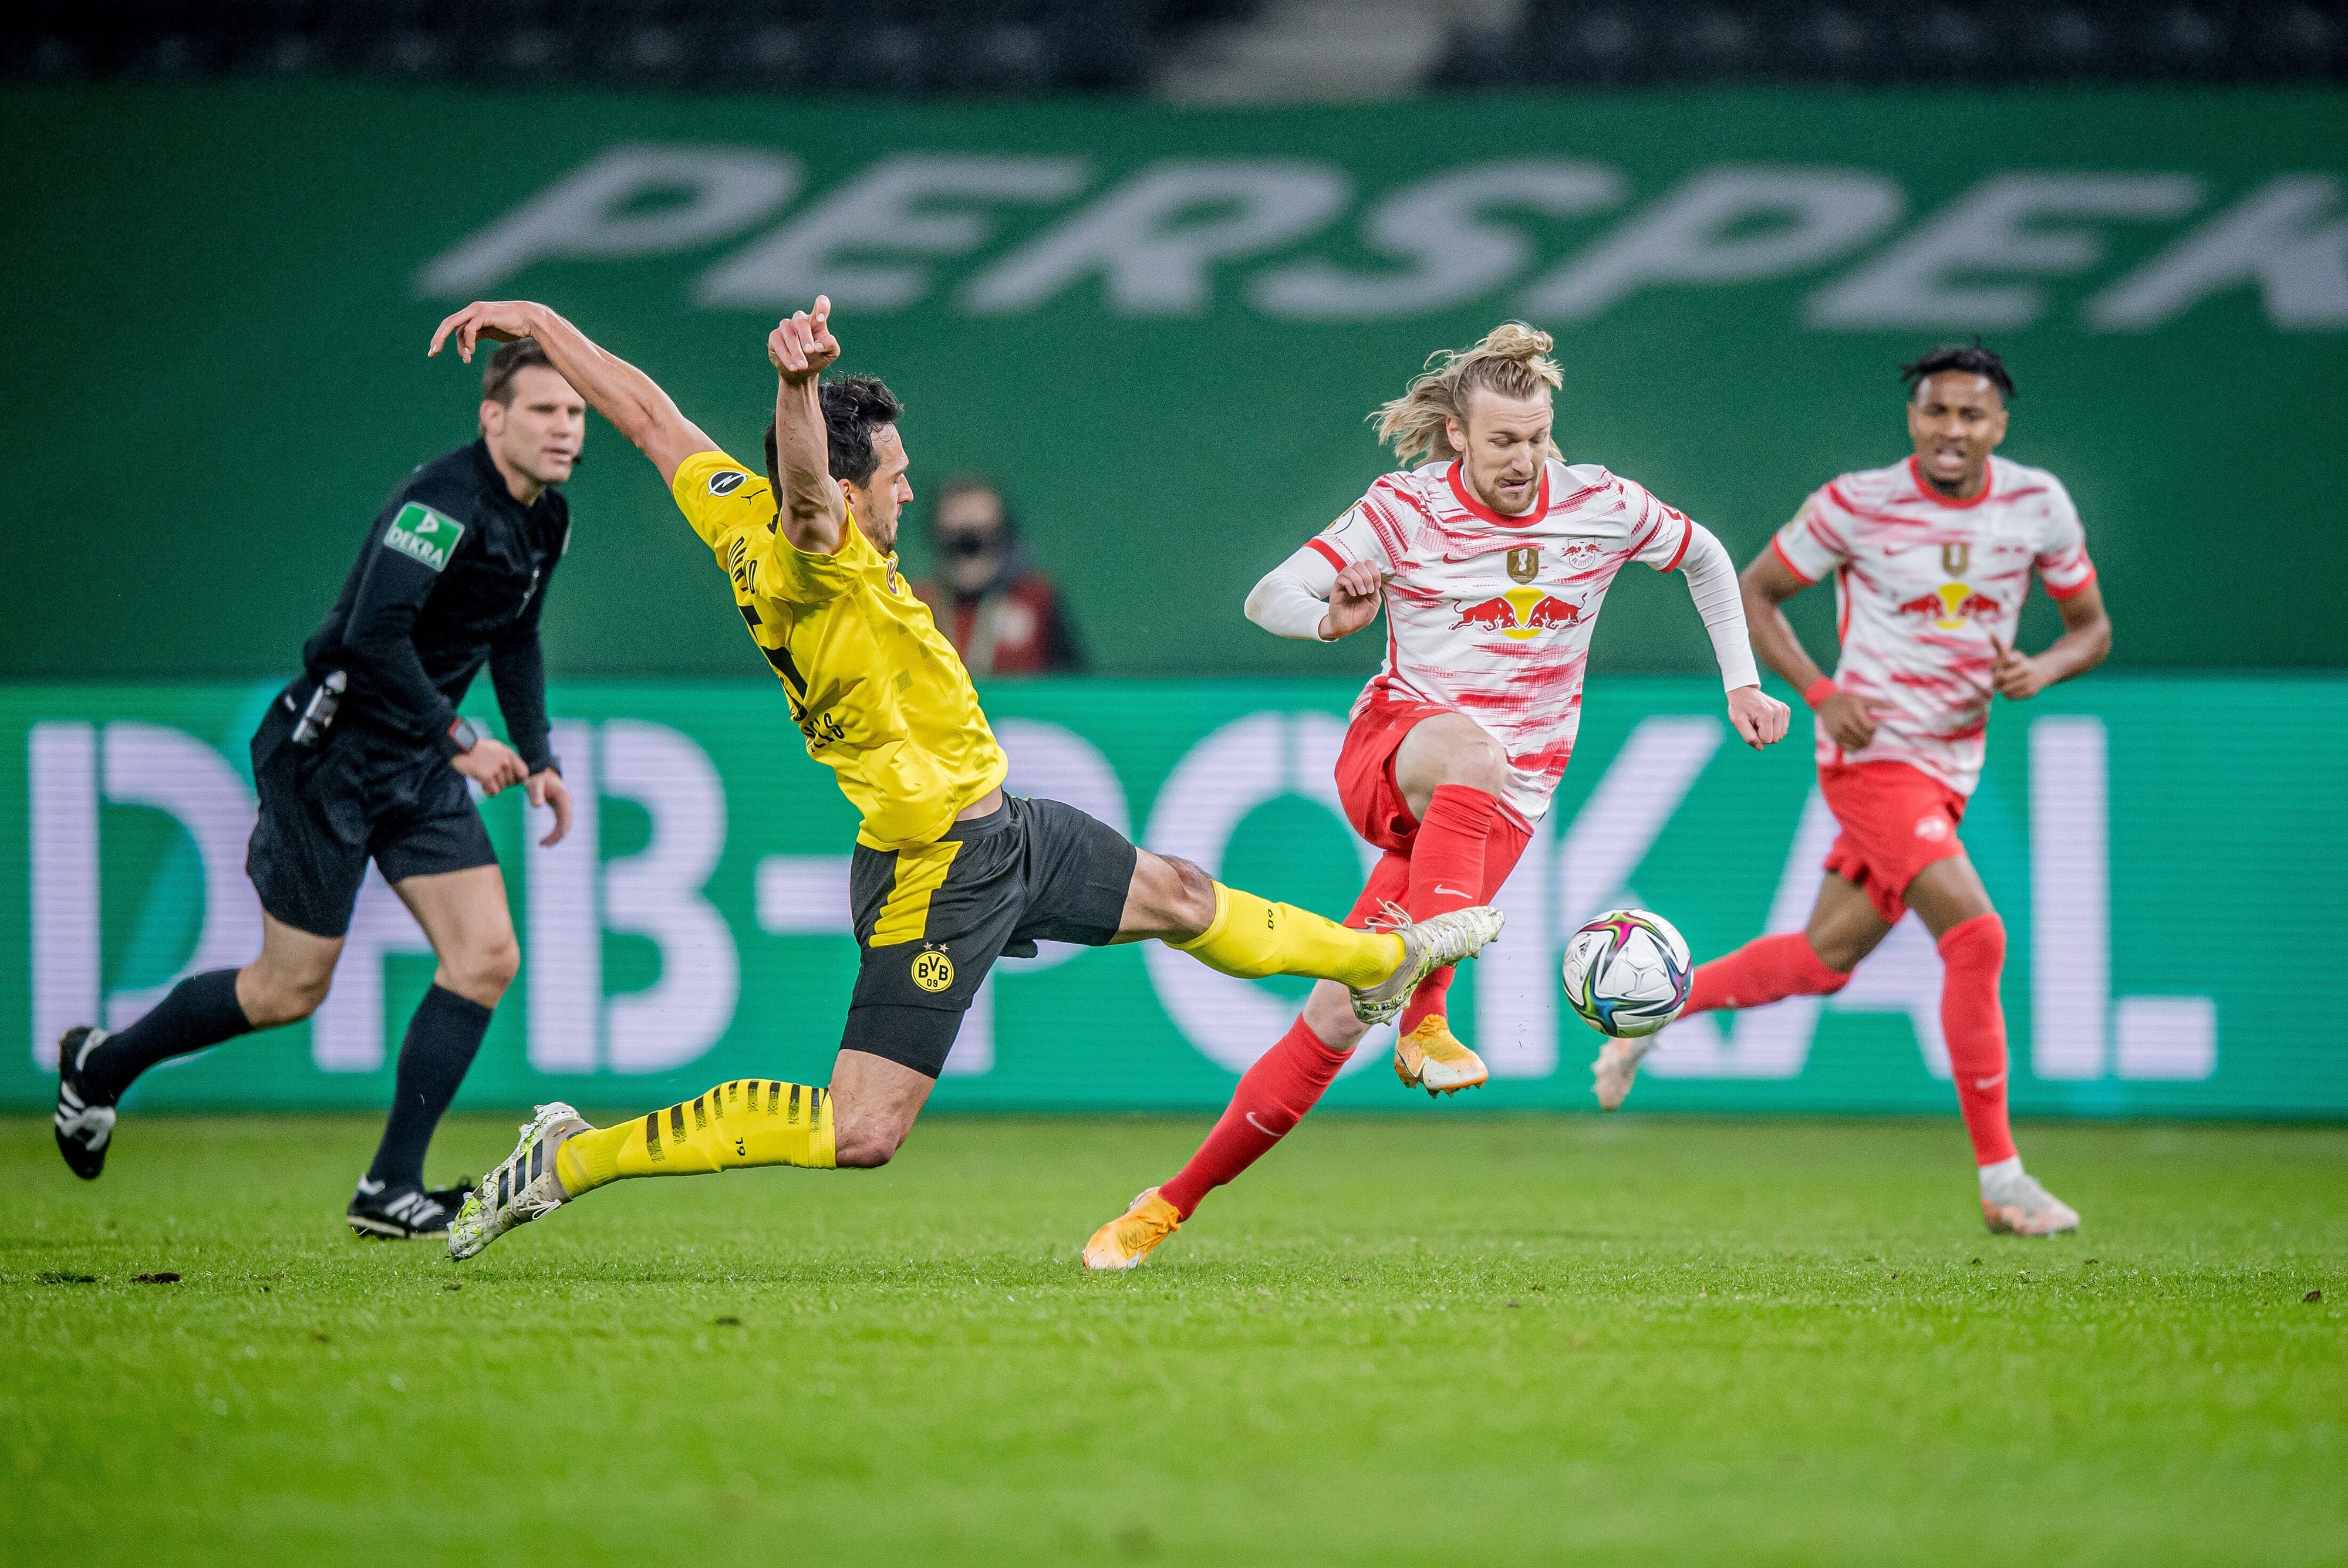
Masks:
[[[587,434],[587,406],[528,338],[481,376],[481,439],[425,462],[369,523],[359,561],[303,674],[254,735],[261,819],[244,871],[261,894],[261,958],[181,981],[120,1033],[68,1028],[56,1054],[56,1148],[75,1176],[106,1167],[115,1101],[157,1061],[317,1012],[333,981],[366,861],[416,913],[439,969],[399,1047],[397,1094],[350,1228],[446,1237],[465,1190],[423,1183],[425,1145],[465,1080],[488,1014],[521,962],[505,878],[465,779],[484,793],[526,784],[571,796],[547,751],[547,667],[538,617],[571,542],[559,486]],[[458,718],[481,664],[514,737]]]

